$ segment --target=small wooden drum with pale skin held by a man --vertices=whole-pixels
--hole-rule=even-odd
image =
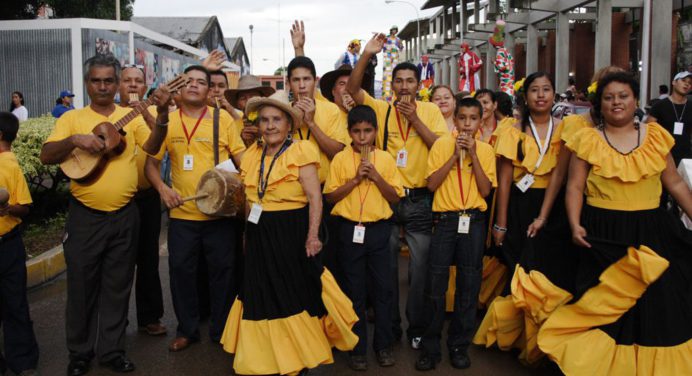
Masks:
[[[200,212],[212,217],[233,217],[245,211],[245,188],[240,176],[218,168],[202,175],[195,199]]]

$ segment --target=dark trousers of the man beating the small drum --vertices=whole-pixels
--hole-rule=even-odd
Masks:
[[[221,339],[228,312],[237,295],[235,236],[230,219],[171,219],[168,227],[168,264],[173,309],[178,319],[177,336],[199,340],[197,281],[199,258],[203,255],[209,272],[209,337],[214,342]]]

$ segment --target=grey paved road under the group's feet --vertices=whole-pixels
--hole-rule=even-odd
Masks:
[[[135,362],[137,370],[135,375],[232,375],[232,357],[218,344],[209,342],[206,336],[207,326],[203,324],[200,343],[191,346],[180,353],[170,353],[168,343],[175,334],[175,315],[173,313],[170,290],[168,284],[168,257],[166,245],[162,244],[162,257],[160,263],[161,279],[164,289],[165,314],[163,323],[169,328],[167,336],[150,337],[137,332],[134,324],[127,329],[128,356]],[[406,258],[401,258],[401,289],[405,292],[405,265]],[[41,348],[39,370],[42,375],[64,375],[67,367],[67,350],[65,348],[65,300],[66,280],[64,275],[55,281],[37,288],[29,293],[31,315],[38,342]],[[402,299],[402,303],[403,303]],[[402,309],[403,312],[403,309]],[[134,299],[130,303],[130,322],[135,323]],[[370,337],[372,338],[372,336]],[[538,368],[526,368],[516,360],[516,353],[506,353],[497,349],[483,349],[473,347],[470,350],[472,366],[463,371],[463,375],[484,376],[554,376],[560,375],[557,367],[546,362]],[[356,373],[347,366],[348,355],[336,352],[335,364],[322,366],[311,375],[414,375],[420,374],[413,368],[416,359],[416,351],[402,342],[394,349],[397,364],[391,368],[377,366],[375,356],[370,352],[368,372]],[[90,375],[113,375],[105,368],[92,364]],[[436,371],[428,374],[435,375],[459,375],[462,371],[455,370],[449,365],[449,359],[444,356],[442,363]]]

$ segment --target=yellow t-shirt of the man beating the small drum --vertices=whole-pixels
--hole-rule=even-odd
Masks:
[[[194,196],[197,193],[197,184],[205,172],[214,168],[214,119],[212,107],[207,107],[207,113],[193,133],[197,118],[185,114],[182,119],[185,129],[190,136],[188,145],[183,123],[180,121],[181,110],[175,110],[168,115],[168,134],[163,147],[156,159],[161,160],[168,150],[171,159],[171,182],[173,190],[181,197]],[[226,111],[219,112],[219,163],[229,159],[229,153],[238,155],[245,151],[240,136],[230,131],[231,115]],[[183,163],[185,155],[192,156],[192,170],[186,171]],[[171,210],[171,218],[186,219],[191,221],[206,221],[213,219],[202,214],[194,201],[187,201],[183,205]]]

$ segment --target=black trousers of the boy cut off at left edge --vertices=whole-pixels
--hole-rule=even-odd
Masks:
[[[38,363],[38,345],[26,299],[25,262],[26,251],[18,231],[0,240],[0,324],[5,335],[0,373],[4,373],[5,365],[19,374],[35,369]]]

